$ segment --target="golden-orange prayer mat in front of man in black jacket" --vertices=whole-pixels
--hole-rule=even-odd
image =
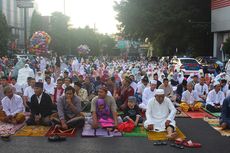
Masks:
[[[49,131],[50,127],[47,126],[24,126],[20,129],[15,136],[32,136],[42,137]]]

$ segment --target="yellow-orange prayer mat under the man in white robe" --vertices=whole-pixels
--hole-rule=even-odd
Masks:
[[[186,136],[181,132],[181,130],[179,128],[176,128],[176,132],[178,134],[178,136],[176,138],[181,138],[183,140],[186,138]],[[151,131],[151,132],[148,132],[148,139],[154,140],[154,141],[167,140],[168,138],[166,137],[166,135],[167,135],[166,131],[164,131],[164,132]]]

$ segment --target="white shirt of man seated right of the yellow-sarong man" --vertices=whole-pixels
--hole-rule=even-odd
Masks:
[[[225,98],[225,96],[224,96],[224,93],[222,91],[219,91],[218,93],[216,93],[215,89],[213,89],[208,93],[206,105],[208,105],[208,104],[212,105],[212,106],[214,106],[214,104],[222,105],[224,98]]]

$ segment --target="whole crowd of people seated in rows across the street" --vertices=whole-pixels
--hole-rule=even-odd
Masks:
[[[105,121],[143,123],[150,131],[174,138],[177,107],[182,111],[222,112],[230,127],[230,89],[226,73],[185,76],[165,61],[102,57],[37,57],[0,60],[0,121],[28,125],[83,127],[90,112],[92,128]],[[4,66],[3,66],[4,65]],[[118,111],[122,115],[118,115]]]

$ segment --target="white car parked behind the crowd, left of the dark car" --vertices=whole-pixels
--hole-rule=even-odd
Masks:
[[[194,58],[173,58],[171,63],[174,65],[174,69],[177,70],[177,72],[182,71],[185,76],[190,74],[203,74],[202,66]]]

